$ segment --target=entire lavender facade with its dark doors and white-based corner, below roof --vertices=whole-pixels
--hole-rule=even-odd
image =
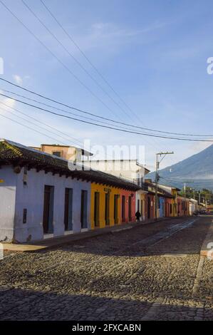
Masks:
[[[11,165],[1,168],[1,177],[1,241],[29,242],[90,229],[89,181],[24,167],[17,173]]]

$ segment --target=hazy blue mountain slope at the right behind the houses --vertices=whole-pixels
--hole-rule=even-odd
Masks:
[[[193,188],[209,188],[213,190],[213,145],[200,153],[182,160],[159,171],[160,183],[182,188],[183,182],[193,180],[189,184]],[[146,175],[145,179],[155,179],[155,172]]]

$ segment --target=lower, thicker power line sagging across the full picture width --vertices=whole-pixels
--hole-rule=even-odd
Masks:
[[[154,137],[154,138],[166,138],[166,139],[170,139],[170,140],[186,140],[186,141],[193,141],[193,142],[213,142],[213,140],[202,140],[202,139],[191,139],[191,138],[190,139],[189,138],[174,138],[174,137],[167,137],[167,136],[162,136],[162,135],[139,133],[139,132],[136,132],[136,131],[133,131],[133,130],[124,130],[124,129],[120,129],[120,128],[113,128],[113,127],[110,127],[108,125],[99,125],[98,123],[92,123],[92,122],[89,122],[89,121],[80,120],[78,118],[73,118],[73,117],[68,116],[68,115],[59,114],[59,113],[53,112],[51,110],[47,110],[45,108],[38,107],[36,105],[32,105],[31,103],[26,103],[25,101],[21,101],[19,99],[11,98],[10,96],[6,96],[5,94],[2,94],[2,93],[0,93],[0,96],[4,96],[6,98],[10,98],[11,100],[15,100],[15,101],[17,101],[19,103],[23,103],[24,105],[28,105],[28,106],[31,106],[33,108],[37,108],[38,110],[43,110],[43,111],[45,111],[47,113],[51,113],[53,115],[58,115],[58,116],[61,116],[63,118],[68,118],[68,119],[71,119],[71,120],[76,120],[76,121],[81,122],[81,123],[86,123],[86,124],[90,124],[90,125],[96,125],[96,126],[101,127],[101,128],[108,128],[108,129],[112,129],[112,130],[122,131],[123,133],[131,133],[131,134],[136,134],[136,135],[145,135],[145,136],[150,136],[150,137]]]

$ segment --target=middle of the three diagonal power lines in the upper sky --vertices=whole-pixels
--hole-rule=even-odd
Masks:
[[[50,33],[51,34],[51,36],[53,37],[53,38],[55,38],[55,40],[61,45],[61,47],[68,53],[68,55],[69,56],[71,56],[71,58],[73,58],[73,60],[74,61],[76,61],[76,63],[78,64],[78,66],[80,66],[80,68],[90,77],[90,79],[92,79],[92,81],[94,81],[94,83],[101,89],[101,91],[103,91],[103,93],[105,93],[107,96],[108,96],[108,98],[110,98],[112,101],[113,101],[113,103],[115,103],[115,105],[117,105],[118,106],[118,108],[120,108],[120,110],[123,110],[123,113],[125,113],[126,115],[128,115],[128,113],[126,113],[126,111],[122,108],[122,107],[120,107],[120,105],[115,101],[115,99],[113,99],[111,96],[110,96],[110,94],[108,94],[108,92],[107,91],[105,91],[105,89],[100,85],[100,83],[98,83],[98,81],[96,81],[96,79],[93,77],[93,76],[91,76],[90,75],[90,73],[86,70],[86,68],[80,63],[80,61],[78,61],[78,59],[75,57],[75,56],[73,56],[73,54],[70,52],[70,51],[68,51],[68,48],[66,48],[66,46],[64,46],[64,44],[63,43],[61,43],[61,41],[59,41],[58,40],[58,38],[56,37],[56,35],[50,30],[50,29],[48,29],[48,27],[46,26],[46,24],[44,24],[43,23],[43,21],[38,17],[38,15],[36,15],[36,13],[33,11],[33,9],[31,9],[29,6],[28,6],[28,4],[26,4],[25,3],[25,1],[24,0],[21,0],[22,1],[22,3],[24,4],[24,6],[26,6],[26,8],[31,12],[31,14],[33,14],[33,16],[35,16],[36,17],[36,19],[40,22],[40,24],[48,31],[48,33]],[[129,115],[128,115],[129,116]]]

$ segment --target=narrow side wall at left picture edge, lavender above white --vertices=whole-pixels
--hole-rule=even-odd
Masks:
[[[17,175],[11,166],[2,166],[0,179],[0,241],[10,242],[14,237]]]

